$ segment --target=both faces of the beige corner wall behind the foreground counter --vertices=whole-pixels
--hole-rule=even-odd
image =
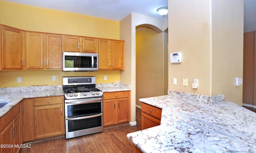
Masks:
[[[169,63],[170,90],[225,94],[226,101],[242,105],[235,78],[243,72],[243,6],[241,0],[168,0],[169,55],[182,52],[182,63]],[[198,89],[192,88],[194,78]]]

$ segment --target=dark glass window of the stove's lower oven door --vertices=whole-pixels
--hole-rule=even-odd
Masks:
[[[68,121],[68,132],[100,127],[102,116]]]

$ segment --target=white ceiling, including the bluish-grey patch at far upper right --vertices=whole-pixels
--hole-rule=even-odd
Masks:
[[[156,11],[168,0],[5,0],[98,18],[120,21],[130,13],[162,19]],[[256,0],[244,0],[244,32],[256,30]],[[168,16],[168,15],[167,15]],[[167,18],[165,16],[164,18]]]

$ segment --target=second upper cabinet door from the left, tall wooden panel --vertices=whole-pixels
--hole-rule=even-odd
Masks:
[[[43,68],[43,33],[26,32],[26,69]]]

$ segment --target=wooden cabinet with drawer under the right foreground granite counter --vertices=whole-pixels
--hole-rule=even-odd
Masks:
[[[160,125],[162,109],[149,104],[141,104],[141,129]]]

